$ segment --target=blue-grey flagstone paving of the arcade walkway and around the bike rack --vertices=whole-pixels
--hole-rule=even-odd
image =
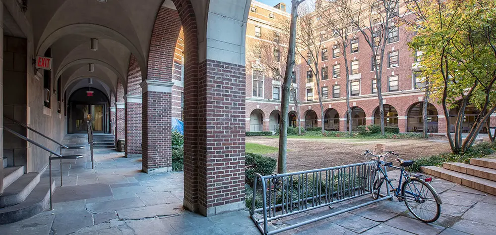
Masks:
[[[64,143],[85,144],[86,138],[67,135]],[[124,158],[124,153],[109,150],[96,150],[95,169],[91,169],[88,149],[65,152],[85,157],[63,162],[62,187],[60,168],[54,162],[53,176],[59,185],[53,194],[53,211],[2,225],[0,235],[259,234],[248,211],[206,218],[183,209],[182,173],[148,175],[140,171],[139,158]],[[386,200],[282,234],[494,234],[495,196],[441,179],[434,179],[432,185],[443,202],[441,217],[434,224],[415,220],[404,203]],[[331,210],[369,200],[364,197]],[[328,208],[314,210],[274,221],[272,226],[294,224],[328,212]]]

